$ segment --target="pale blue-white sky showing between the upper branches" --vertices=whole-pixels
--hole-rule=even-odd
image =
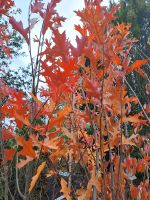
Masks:
[[[14,0],[15,5],[17,8],[20,8],[22,10],[21,15],[15,16],[16,20],[21,20],[23,22],[24,27],[26,28],[28,26],[28,7],[30,0]],[[44,0],[46,3],[48,3],[50,0]],[[107,6],[109,0],[104,0],[103,5]],[[57,6],[57,10],[60,15],[67,18],[67,20],[63,23],[63,30],[66,30],[67,37],[70,39],[70,41],[75,44],[75,38],[76,38],[76,32],[74,30],[74,24],[79,24],[79,18],[74,13],[74,10],[82,9],[84,6],[84,0],[62,0],[60,4]],[[40,23],[36,25],[36,27],[32,31],[32,36],[34,37],[36,34],[40,32]],[[37,46],[34,44],[32,45],[33,49],[33,56],[36,55],[37,52]],[[28,54],[28,47],[24,43],[22,50]],[[25,66],[28,65],[29,58],[27,57],[20,57],[14,59],[12,63],[12,67],[17,68],[17,66]]]

